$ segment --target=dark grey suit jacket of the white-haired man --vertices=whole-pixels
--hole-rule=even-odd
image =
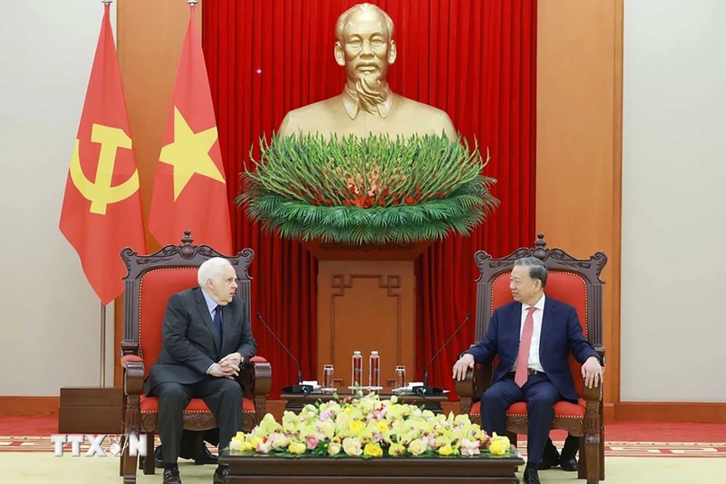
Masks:
[[[249,361],[257,351],[247,306],[234,297],[222,306],[222,340],[209,315],[200,287],[187,289],[169,298],[162,327],[162,351],[149,370],[144,392],[149,394],[161,383],[197,383],[207,369],[230,353]]]

